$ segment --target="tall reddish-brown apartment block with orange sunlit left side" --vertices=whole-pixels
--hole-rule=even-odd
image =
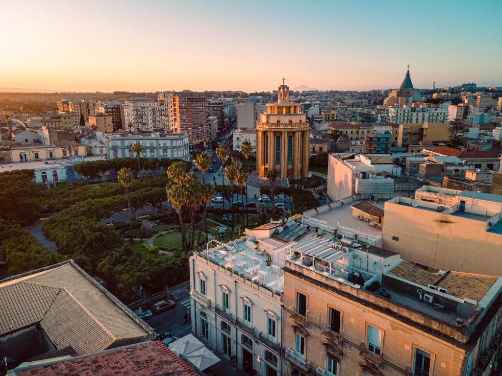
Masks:
[[[207,122],[206,98],[198,93],[177,92],[171,95],[174,133],[188,134],[190,148],[203,147],[209,142],[211,130]]]

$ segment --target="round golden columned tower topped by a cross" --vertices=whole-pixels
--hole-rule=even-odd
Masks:
[[[279,86],[277,103],[268,103],[256,124],[257,172],[269,169],[281,179],[298,179],[309,173],[310,127],[300,104],[289,102],[289,87]]]

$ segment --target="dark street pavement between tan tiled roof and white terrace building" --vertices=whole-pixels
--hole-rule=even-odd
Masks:
[[[175,296],[176,306],[166,312],[154,315],[147,323],[155,329],[157,333],[170,331],[175,337],[183,337],[190,333],[190,323],[183,325],[183,316],[190,308],[190,294],[188,291],[189,282],[169,291]]]

